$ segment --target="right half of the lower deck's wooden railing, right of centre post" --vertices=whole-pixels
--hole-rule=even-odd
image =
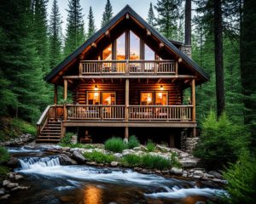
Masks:
[[[130,105],[129,120],[191,121],[192,105]]]

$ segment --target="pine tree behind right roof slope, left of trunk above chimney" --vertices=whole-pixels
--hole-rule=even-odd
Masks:
[[[181,0],[158,0],[154,7],[158,12],[156,24],[160,32],[169,39],[177,38],[177,20],[179,19],[179,8]]]

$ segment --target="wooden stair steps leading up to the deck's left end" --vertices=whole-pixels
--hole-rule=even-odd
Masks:
[[[37,143],[58,143],[61,140],[61,122],[49,120],[41,129]]]

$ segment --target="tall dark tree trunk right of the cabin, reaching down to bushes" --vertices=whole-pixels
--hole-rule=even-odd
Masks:
[[[215,44],[217,116],[221,116],[225,107],[222,40],[223,40],[223,37],[222,37],[221,0],[215,0],[214,1],[214,44]]]

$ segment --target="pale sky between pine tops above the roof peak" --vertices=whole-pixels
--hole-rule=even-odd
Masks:
[[[126,4],[129,4],[131,8],[133,8],[137,14],[140,14],[143,19],[147,19],[148,17],[148,9],[149,4],[152,2],[154,5],[156,4],[157,0],[110,0],[113,8],[113,15],[118,14],[119,11],[125,7]],[[52,8],[53,0],[49,0],[48,4],[48,14],[50,14]],[[96,28],[97,30],[101,28],[101,21],[102,21],[102,14],[105,8],[107,0],[80,0],[81,7],[83,8],[84,14],[84,24],[85,24],[85,31],[88,30],[88,20],[87,16],[89,13],[90,6],[92,7]],[[66,32],[67,27],[67,4],[68,0],[58,0],[58,5],[60,8],[60,13],[63,21],[62,31],[63,33]]]

